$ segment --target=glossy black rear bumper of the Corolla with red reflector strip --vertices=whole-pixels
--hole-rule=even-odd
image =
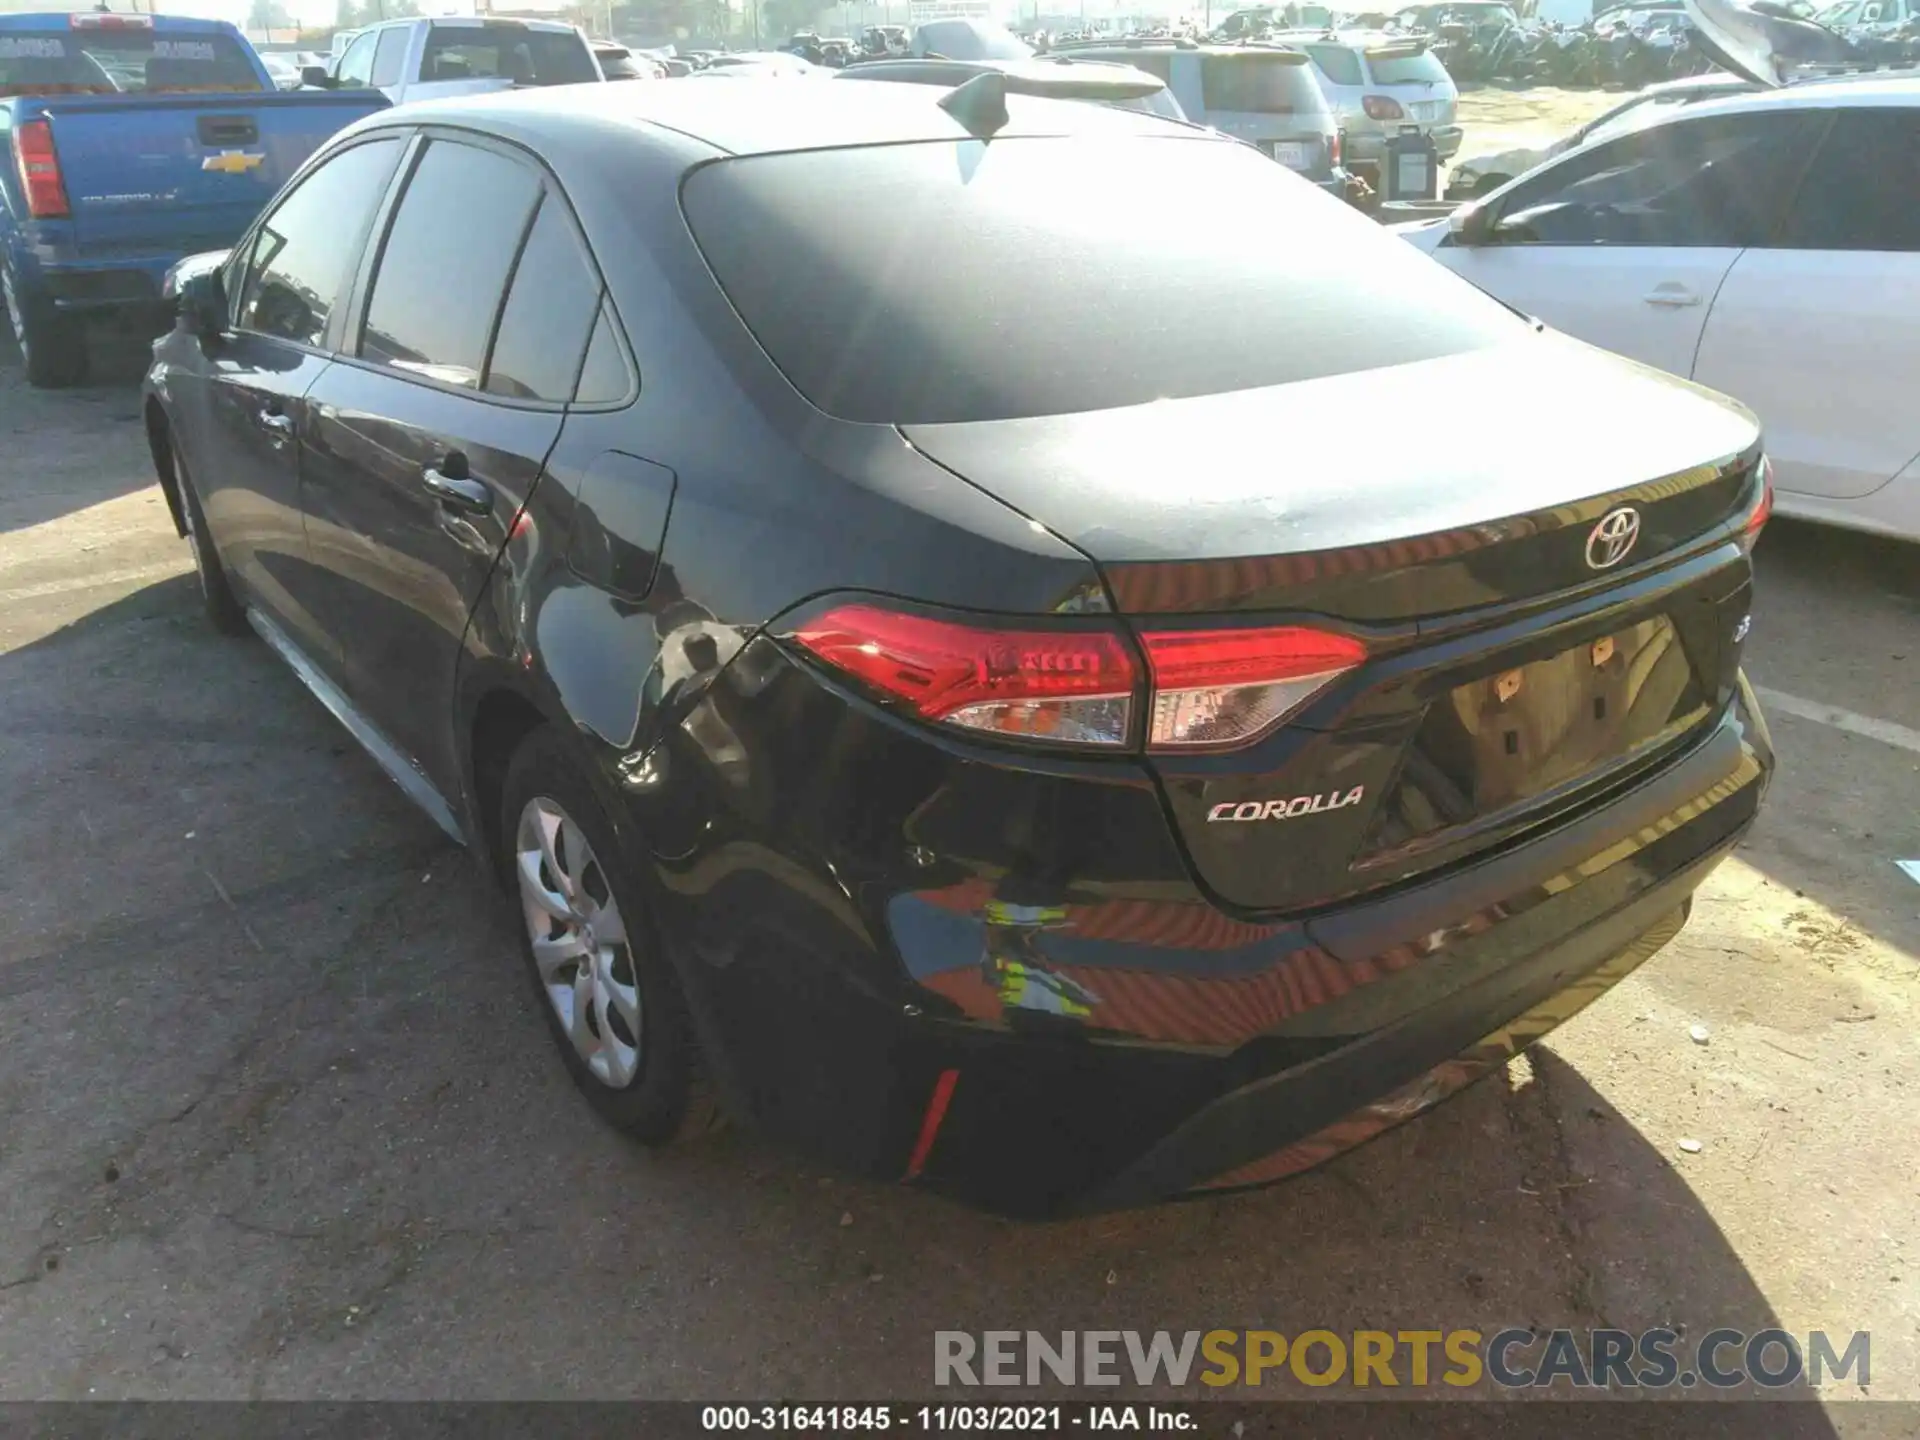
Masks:
[[[778,708],[791,726],[797,708]],[[745,714],[733,732],[755,753]],[[885,774],[866,739],[862,770]],[[1050,1217],[1271,1183],[1438,1102],[1670,939],[1770,772],[1741,682],[1713,728],[1611,801],[1273,924],[1171,881],[1165,899],[1050,902],[1004,876],[862,881],[845,858],[776,881],[749,856],[795,847],[766,831],[728,847],[724,883],[718,854],[691,852],[662,881],[699,893],[674,947],[735,1104],[876,1179]],[[937,801],[918,803],[922,843]],[[887,829],[877,801],[839,803]],[[1133,801],[1100,804],[1119,822]]]

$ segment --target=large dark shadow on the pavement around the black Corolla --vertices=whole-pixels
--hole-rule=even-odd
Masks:
[[[747,1131],[639,1150],[478,870],[190,578],[0,657],[0,730],[10,1396],[924,1396],[943,1329],[1772,1323],[1551,1048],[1279,1188],[1052,1225]]]

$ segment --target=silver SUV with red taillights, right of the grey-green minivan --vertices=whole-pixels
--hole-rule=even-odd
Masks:
[[[1459,152],[1459,90],[1427,40],[1380,31],[1281,35],[1273,44],[1304,50],[1319,75],[1321,94],[1344,132],[1348,167],[1375,167],[1386,138],[1409,125],[1430,134],[1440,159]]]

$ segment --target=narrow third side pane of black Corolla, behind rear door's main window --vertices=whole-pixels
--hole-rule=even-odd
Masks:
[[[574,238],[566,207],[549,194],[513,271],[486,388],[515,399],[572,399],[597,313],[599,276]]]

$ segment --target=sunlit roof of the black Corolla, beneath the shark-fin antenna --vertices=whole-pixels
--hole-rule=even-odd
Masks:
[[[609,127],[659,127],[732,156],[785,150],[958,140],[966,127],[941,109],[945,94],[927,84],[829,84],[826,81],[741,79],[733,84],[555,84],[476,96],[422,100],[378,111],[355,132],[403,125],[470,125],[545,142],[603,140]],[[1000,136],[1175,134],[1152,115],[1114,106],[1008,96]],[[1200,132],[1196,132],[1200,134]]]

